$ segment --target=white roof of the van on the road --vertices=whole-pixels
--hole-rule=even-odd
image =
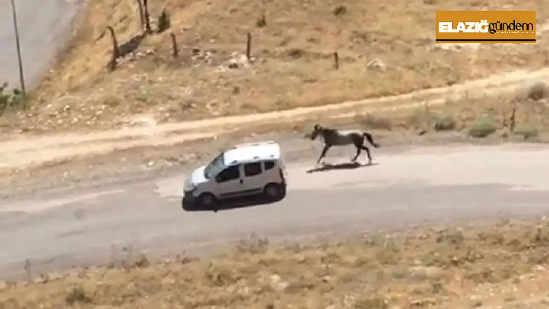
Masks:
[[[268,141],[236,145],[225,151],[223,161],[225,165],[232,165],[250,161],[278,160],[280,157],[280,145]]]

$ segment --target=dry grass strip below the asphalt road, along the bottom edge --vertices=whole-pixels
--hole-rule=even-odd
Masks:
[[[547,304],[549,223],[414,229],[338,243],[252,239],[212,259],[41,276],[0,288],[3,308],[509,308]],[[524,305],[523,305],[524,306]],[[523,308],[523,307],[521,307]]]

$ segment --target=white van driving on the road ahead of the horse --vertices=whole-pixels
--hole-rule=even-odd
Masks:
[[[240,144],[195,169],[183,188],[184,202],[209,206],[227,198],[264,195],[284,198],[287,181],[280,145]]]

